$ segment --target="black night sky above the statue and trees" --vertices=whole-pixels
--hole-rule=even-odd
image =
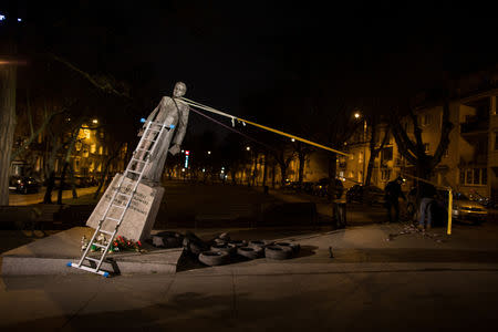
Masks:
[[[476,2],[17,2],[38,51],[128,82],[148,107],[177,81],[187,97],[242,114],[245,98],[288,82],[362,96],[497,59],[495,12]]]

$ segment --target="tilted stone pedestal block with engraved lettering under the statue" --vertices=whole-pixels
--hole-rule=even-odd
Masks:
[[[111,185],[105,190],[101,200],[96,205],[86,226],[96,228],[98,220],[103,217],[105,209],[107,208],[115,190],[117,190],[117,184],[123,175],[116,174]],[[125,178],[121,188],[121,193],[131,194],[135,180]],[[149,187],[144,184],[138,184],[136,193],[132,199],[132,203],[124,215],[124,219],[121,222],[120,229],[116,236],[123,236],[126,239],[134,241],[146,240],[151,237],[151,230],[156,220],[157,211],[159,210],[160,200],[163,199],[164,188],[163,187]],[[125,205],[127,197],[117,195],[115,204]],[[118,218],[123,209],[112,207],[108,217]],[[105,220],[102,229],[107,231],[113,231],[116,222],[113,220]]]

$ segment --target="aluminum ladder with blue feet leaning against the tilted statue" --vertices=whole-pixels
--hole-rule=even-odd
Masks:
[[[102,263],[105,260],[105,257],[108,252],[108,249],[111,248],[111,243],[114,240],[114,237],[117,234],[117,230],[120,228],[121,222],[124,219],[124,216],[129,208],[129,205],[132,204],[133,197],[135,196],[136,188],[138,187],[139,181],[142,180],[142,177],[144,175],[144,170],[146,169],[147,165],[149,164],[151,155],[156,151],[157,148],[157,142],[162,137],[165,129],[173,129],[174,125],[167,125],[165,123],[158,123],[158,122],[147,122],[147,125],[145,127],[144,133],[142,134],[141,141],[138,142],[138,145],[136,149],[133,152],[133,157],[131,158],[128,165],[126,166],[125,172],[123,173],[123,176],[121,177],[117,189],[114,190],[114,194],[108,201],[108,205],[102,216],[102,218],[98,220],[97,228],[95,229],[92,239],[89,241],[85,251],[83,252],[81,259],[79,262],[68,262],[68,267],[76,268],[80,270],[93,272],[101,274],[105,278],[110,277],[108,271],[104,271],[101,269]],[[157,134],[154,134],[157,133]],[[151,135],[152,134],[152,135]],[[145,148],[144,148],[145,147]],[[142,157],[138,157],[142,154]],[[137,170],[137,168],[139,170]],[[135,180],[135,184],[133,185],[133,189],[131,191],[122,191],[122,186],[124,179],[128,177],[133,180]],[[123,204],[116,203],[117,197],[124,197]],[[116,209],[120,217],[113,218],[110,217],[110,212],[112,209]],[[105,220],[111,220],[112,222],[115,222],[115,227],[113,231],[107,231],[102,229],[102,226]],[[103,234],[104,236],[108,236],[110,239],[106,240],[106,245],[101,245],[95,241],[97,238],[97,235]],[[102,255],[100,258],[89,257],[90,249],[92,246],[95,246],[96,248],[100,248],[102,251]],[[87,262],[87,264],[84,264]]]

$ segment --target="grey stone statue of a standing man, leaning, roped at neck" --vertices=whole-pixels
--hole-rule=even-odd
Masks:
[[[175,89],[173,90],[173,97],[164,96],[157,107],[154,108],[151,115],[148,115],[147,121],[138,132],[138,136],[142,136],[148,122],[166,124],[165,132],[159,141],[157,141],[157,146],[149,155],[149,163],[144,169],[142,181],[148,186],[154,187],[159,185],[168,152],[172,155],[176,155],[180,151],[180,145],[187,131],[189,107],[179,98],[185,95],[186,91],[187,86],[185,83],[177,82],[175,84]],[[152,124],[151,128],[158,131],[160,129],[160,125]],[[173,146],[169,147],[175,133],[176,135],[173,139]],[[156,136],[157,132],[151,131],[145,138],[156,139]],[[149,149],[151,146],[151,141],[144,141],[139,148]],[[136,157],[144,159],[146,154],[141,153]]]

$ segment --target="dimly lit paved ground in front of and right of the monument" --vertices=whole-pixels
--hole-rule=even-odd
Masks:
[[[3,277],[0,325],[21,331],[464,331],[496,324],[497,227],[457,226],[452,237],[430,238],[409,228],[400,235],[406,229],[300,231],[286,237],[301,245],[298,258],[193,266],[173,276]],[[216,230],[198,235],[210,237],[209,231]],[[277,238],[277,229],[230,234],[270,238],[272,231]]]

